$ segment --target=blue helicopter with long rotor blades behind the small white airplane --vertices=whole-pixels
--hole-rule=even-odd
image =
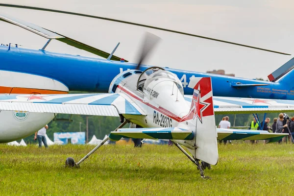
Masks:
[[[234,44],[242,47],[261,49],[200,35],[194,35],[180,31],[125,22],[115,19],[108,19],[98,16],[11,4],[0,3],[0,6],[35,9],[78,15],[83,17],[91,17],[101,20],[124,23],[128,25],[139,25],[143,27],[169,31],[172,33],[179,33],[188,36]],[[33,25],[31,23],[27,23],[14,17],[7,16],[2,13],[0,14],[0,20],[13,25],[18,25],[25,28],[26,30],[29,30],[49,39],[45,46],[40,50],[24,49],[20,48],[18,45],[12,46],[11,44],[0,46],[0,75],[2,75],[2,77],[0,77],[0,93],[63,94],[68,93],[69,91],[105,93],[108,92],[112,79],[118,73],[122,73],[126,70],[138,69],[137,65],[142,63],[129,63],[127,60],[113,55],[119,44],[111,53],[107,53],[100,49],[96,49],[76,40],[73,40],[64,35],[58,34],[37,25]],[[46,51],[45,49],[52,39],[64,42],[78,49],[83,49],[88,52],[97,54],[98,56],[101,56],[105,59]],[[154,36],[152,37],[152,39],[146,39],[145,45],[151,43],[153,47],[156,44],[156,39],[157,38],[154,39]],[[150,47],[150,49],[152,49],[152,47]],[[273,51],[269,49],[261,50],[290,55],[287,53]],[[144,53],[147,51],[142,52]],[[149,67],[151,66],[141,65],[139,69],[144,71]],[[285,63],[273,73],[271,73],[269,75],[270,81],[245,79],[169,68],[164,69],[175,73],[180,78],[184,88],[184,93],[186,95],[193,94],[193,90],[188,88],[188,84],[192,78],[211,77],[214,96],[294,99],[294,84],[292,83],[292,78],[294,75],[293,68],[294,58]],[[125,75],[125,77],[126,76],[127,74]],[[258,99],[256,101],[258,101]]]

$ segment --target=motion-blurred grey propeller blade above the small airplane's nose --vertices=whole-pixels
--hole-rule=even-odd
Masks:
[[[160,39],[161,39],[160,37],[152,33],[149,33],[149,32],[145,33],[145,38],[141,47],[141,52],[140,52],[139,61],[138,61],[136,70],[139,70],[140,65],[143,63],[143,61],[145,60],[149,52],[152,49],[154,49],[155,45],[159,42]]]

